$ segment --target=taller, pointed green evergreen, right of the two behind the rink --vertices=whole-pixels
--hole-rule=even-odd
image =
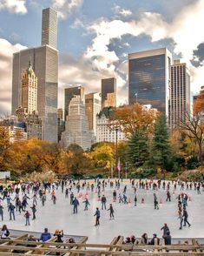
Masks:
[[[172,153],[167,121],[164,114],[161,114],[155,122],[155,131],[150,152],[151,160],[155,167],[161,167],[161,169],[167,170]]]

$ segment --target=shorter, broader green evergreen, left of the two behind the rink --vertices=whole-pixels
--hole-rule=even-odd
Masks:
[[[135,131],[128,139],[128,165],[138,168],[148,160],[148,137],[141,131]]]

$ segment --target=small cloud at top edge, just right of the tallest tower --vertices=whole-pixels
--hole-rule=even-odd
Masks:
[[[74,10],[82,6],[83,0],[52,0],[52,7],[57,10],[62,19],[68,17]]]

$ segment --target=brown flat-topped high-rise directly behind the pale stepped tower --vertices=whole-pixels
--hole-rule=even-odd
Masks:
[[[64,120],[69,115],[69,103],[74,96],[79,95],[84,103],[84,88],[82,86],[68,87],[64,89]]]

